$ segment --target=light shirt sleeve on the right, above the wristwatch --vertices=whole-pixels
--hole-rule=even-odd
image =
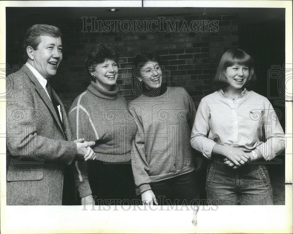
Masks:
[[[272,160],[279,151],[285,150],[285,134],[268,99],[266,99],[262,117],[266,142],[261,142],[256,149],[259,150],[265,160]]]

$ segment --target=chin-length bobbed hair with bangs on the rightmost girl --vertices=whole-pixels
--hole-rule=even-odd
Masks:
[[[226,87],[229,82],[226,78],[226,69],[235,64],[247,66],[249,68],[249,77],[243,87],[250,87],[256,81],[256,75],[254,73],[254,59],[245,51],[240,49],[227,50],[218,65],[216,75],[214,77],[214,84],[218,88]]]

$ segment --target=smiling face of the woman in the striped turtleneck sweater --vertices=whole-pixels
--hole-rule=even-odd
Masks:
[[[118,77],[117,63],[114,60],[106,59],[103,63],[96,65],[96,69],[91,72],[91,75],[96,77],[95,82],[100,88],[110,91]]]

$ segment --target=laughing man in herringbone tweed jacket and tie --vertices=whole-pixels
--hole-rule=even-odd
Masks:
[[[61,37],[55,26],[30,27],[27,62],[6,77],[7,205],[62,205],[65,168],[95,157],[94,142],[71,141],[64,106],[48,80],[62,60]]]

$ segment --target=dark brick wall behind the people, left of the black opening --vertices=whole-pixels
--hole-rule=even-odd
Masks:
[[[137,20],[157,20],[140,18]],[[169,86],[184,87],[197,107],[202,97],[215,89],[212,78],[222,54],[238,46],[237,15],[173,15],[163,16],[172,22],[187,23],[193,20],[217,20],[217,32],[81,32],[82,19],[59,23],[63,33],[63,60],[54,78],[53,87],[68,111],[73,100],[86,89],[90,82],[84,62],[91,48],[100,42],[113,43],[120,52],[119,77],[117,84],[120,93],[131,99],[131,78],[123,77],[123,71],[132,65],[134,57],[143,51],[154,50],[161,55],[160,65],[169,71]],[[117,19],[115,19],[117,20]],[[125,19],[122,19],[125,20]],[[132,20],[132,19],[129,19]],[[180,24],[179,23],[179,24]],[[9,43],[9,42],[8,42]],[[10,47],[10,48],[15,48]],[[9,49],[7,62],[17,65],[20,62],[20,49]]]

